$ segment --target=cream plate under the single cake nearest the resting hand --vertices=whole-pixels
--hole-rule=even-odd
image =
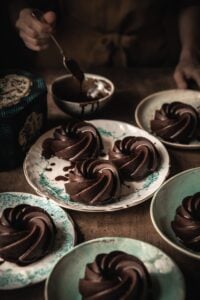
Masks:
[[[200,92],[192,90],[166,90],[144,98],[135,110],[135,120],[138,126],[152,133],[150,121],[154,118],[155,111],[164,103],[179,101],[192,105],[200,112]],[[159,137],[158,137],[159,138]],[[171,143],[159,138],[165,145],[182,149],[200,149],[200,141],[194,140],[189,144]]]

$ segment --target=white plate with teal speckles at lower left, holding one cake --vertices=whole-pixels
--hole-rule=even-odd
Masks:
[[[28,266],[14,263],[0,264],[0,289],[16,289],[45,280],[56,262],[75,244],[75,231],[71,218],[54,202],[26,193],[0,194],[0,215],[7,207],[29,204],[43,208],[54,220],[57,228],[56,241],[52,253]]]

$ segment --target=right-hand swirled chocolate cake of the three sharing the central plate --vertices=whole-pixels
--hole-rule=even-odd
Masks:
[[[123,181],[142,180],[160,165],[156,147],[140,136],[127,136],[123,140],[117,140],[109,151],[109,159],[117,166]]]

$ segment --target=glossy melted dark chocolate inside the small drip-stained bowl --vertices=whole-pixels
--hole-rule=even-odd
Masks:
[[[53,85],[53,93],[63,101],[88,103],[108,96],[111,86],[103,79],[86,78],[82,85],[74,77],[66,77]]]

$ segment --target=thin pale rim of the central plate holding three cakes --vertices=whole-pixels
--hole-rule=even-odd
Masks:
[[[147,134],[149,136],[152,136],[157,141],[157,143],[162,147],[162,150],[165,152],[165,156],[166,156],[165,159],[166,159],[166,162],[167,162],[168,170],[167,170],[167,173],[166,173],[165,177],[163,178],[163,181],[162,181],[161,185],[165,182],[166,178],[169,176],[169,173],[170,173],[170,166],[171,166],[170,156],[169,156],[168,150],[166,149],[165,145],[163,145],[163,143],[156,136],[154,136],[151,133],[145,131],[143,128],[138,128],[137,126],[135,126],[133,124],[130,124],[130,123],[127,123],[127,122],[123,122],[123,121],[111,120],[111,119],[91,119],[91,120],[86,120],[86,122],[96,122],[96,121],[97,122],[99,122],[99,121],[100,122],[104,122],[105,121],[105,122],[110,122],[110,123],[117,123],[117,124],[122,124],[122,125],[125,125],[125,126],[128,125],[130,127],[134,127],[134,129],[137,129],[137,130],[139,129],[139,130],[145,132],[145,134]],[[59,126],[60,125],[55,126],[55,127],[51,128],[50,130],[46,131],[45,133],[43,133],[39,137],[39,139],[44,134],[48,134],[48,132],[51,132],[52,130],[55,130],[55,128],[57,128]],[[139,204],[141,204],[141,203],[143,203],[145,201],[148,201],[150,198],[152,198],[153,194],[155,193],[155,191],[154,191],[149,196],[146,196],[144,199],[142,199],[141,201],[137,202],[136,204],[134,204],[134,202],[133,202],[133,203],[129,203],[129,204],[126,204],[126,205],[121,204],[121,206],[111,207],[111,208],[109,208],[108,206],[102,206],[102,207],[101,206],[91,206],[88,209],[88,207],[75,207],[75,206],[71,206],[71,205],[69,205],[67,203],[63,203],[63,201],[61,201],[59,199],[56,199],[53,196],[49,196],[46,191],[41,192],[40,190],[38,190],[38,188],[34,185],[34,183],[32,183],[32,181],[30,180],[30,178],[28,176],[28,172],[27,172],[28,157],[29,157],[29,155],[31,153],[32,148],[37,143],[37,141],[31,146],[31,148],[27,152],[26,157],[25,157],[24,162],[23,162],[23,172],[24,172],[25,178],[26,178],[28,184],[34,189],[34,191],[39,196],[45,197],[46,199],[54,201],[57,205],[61,206],[64,209],[69,209],[69,210],[72,210],[72,211],[86,212],[86,213],[102,213],[102,212],[104,212],[104,213],[107,213],[107,212],[110,213],[110,212],[120,211],[120,210],[124,210],[124,209],[130,208],[130,207],[137,206],[137,205],[139,205]]]

